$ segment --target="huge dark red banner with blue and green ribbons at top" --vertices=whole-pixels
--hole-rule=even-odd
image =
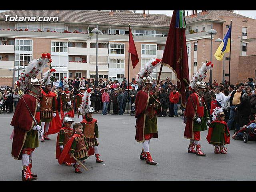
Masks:
[[[166,40],[162,63],[172,69],[177,76],[177,89],[185,107],[185,89],[189,86],[188,53],[185,35],[184,11],[174,10]]]

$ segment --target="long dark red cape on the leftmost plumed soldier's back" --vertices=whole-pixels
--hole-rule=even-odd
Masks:
[[[14,126],[14,135],[12,140],[12,156],[14,159],[21,159],[21,150],[26,140],[26,134],[34,127],[34,120],[31,114],[36,117],[36,109],[39,100],[30,94],[25,94],[18,102],[18,106],[14,112],[11,125]],[[31,112],[28,111],[28,108]],[[40,120],[40,119],[39,119]],[[38,120],[38,121],[39,121]]]

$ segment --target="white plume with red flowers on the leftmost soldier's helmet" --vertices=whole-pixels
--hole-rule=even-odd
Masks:
[[[17,81],[17,86],[22,90],[27,87],[28,80],[32,77],[36,77],[39,72],[42,72],[46,64],[52,62],[51,54],[42,54],[38,59],[32,60],[28,66],[20,74],[20,78]]]

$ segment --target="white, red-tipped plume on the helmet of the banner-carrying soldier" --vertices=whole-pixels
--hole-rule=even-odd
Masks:
[[[144,65],[143,68],[140,69],[140,72],[136,76],[135,83],[137,83],[138,85],[141,85],[143,78],[149,76],[154,71],[156,66],[161,63],[162,63],[162,60],[152,58],[149,62],[147,62]]]

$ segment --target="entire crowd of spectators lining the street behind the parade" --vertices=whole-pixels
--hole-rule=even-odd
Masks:
[[[86,79],[85,77],[83,77]],[[63,86],[64,78],[60,78],[58,81],[54,78],[52,84],[52,92],[57,96],[58,100],[58,111],[60,111],[60,92],[64,90]],[[102,115],[124,114],[127,107],[132,109],[134,106],[136,95],[142,89],[142,87],[136,84],[134,78],[128,84],[128,80],[124,78],[122,82],[118,80],[112,81],[106,78],[98,81],[98,85],[95,84],[94,79],[86,79],[86,89],[90,88],[91,94],[91,106],[94,107],[96,113],[102,111]],[[79,93],[80,79],[74,77],[68,80],[69,91],[76,97]],[[166,78],[164,82],[159,82],[160,91],[158,94],[158,100],[162,105],[162,113],[159,117],[178,117],[178,104],[180,103],[180,94],[177,91],[176,85],[172,84],[169,78]],[[152,91],[156,86],[156,80],[152,84]],[[44,88],[44,87],[42,87]],[[128,91],[129,88],[129,91]],[[12,113],[20,100],[20,92],[14,90],[11,87],[2,87],[0,92],[1,106],[3,112]],[[189,97],[188,89],[185,90],[186,100]],[[240,128],[244,127],[251,122],[252,117],[256,117],[256,85],[252,83],[252,78],[248,78],[245,83],[236,83],[235,85],[229,84],[227,81],[218,84],[216,80],[208,88],[204,89],[204,99],[208,108],[210,118],[212,118],[212,111],[216,106],[220,106],[225,113],[225,121],[228,125],[229,130],[239,132]],[[74,112],[76,112],[76,100],[74,99]],[[169,109],[169,111],[168,111]],[[183,109],[182,106],[180,109]],[[136,110],[136,109],[135,109]],[[254,117],[254,119],[255,119]],[[236,135],[235,135],[236,136]],[[237,137],[237,136],[236,136]]]

